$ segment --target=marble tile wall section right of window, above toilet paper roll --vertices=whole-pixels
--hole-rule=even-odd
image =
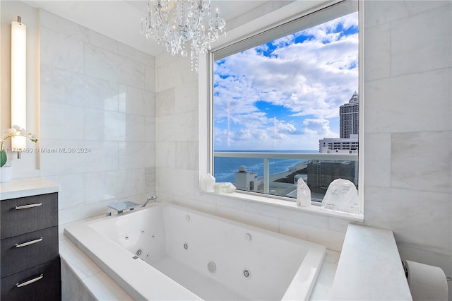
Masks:
[[[452,2],[366,1],[365,16],[365,223],[451,275]]]

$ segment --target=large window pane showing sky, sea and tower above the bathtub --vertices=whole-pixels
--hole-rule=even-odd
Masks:
[[[355,1],[216,49],[212,173],[247,193],[321,201],[338,178],[358,187],[359,17]]]

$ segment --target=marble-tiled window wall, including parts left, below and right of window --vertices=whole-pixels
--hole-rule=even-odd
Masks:
[[[364,5],[364,225],[393,230],[403,259],[450,276],[452,2]],[[198,191],[196,77],[169,54],[155,68],[161,199],[340,251],[346,220]]]

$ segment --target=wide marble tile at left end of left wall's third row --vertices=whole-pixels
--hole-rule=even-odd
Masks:
[[[118,85],[100,78],[41,64],[41,102],[118,110]]]

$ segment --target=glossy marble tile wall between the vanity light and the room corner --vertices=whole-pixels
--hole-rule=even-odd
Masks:
[[[61,184],[60,223],[143,203],[155,193],[154,57],[39,13],[41,176]]]

